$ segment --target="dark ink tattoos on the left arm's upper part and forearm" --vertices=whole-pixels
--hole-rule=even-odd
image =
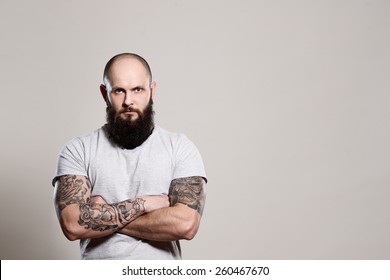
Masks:
[[[114,204],[91,204],[91,184],[87,178],[77,179],[75,175],[59,178],[56,202],[59,211],[68,205],[78,204],[78,224],[94,231],[122,228],[145,211],[145,200],[129,199]]]

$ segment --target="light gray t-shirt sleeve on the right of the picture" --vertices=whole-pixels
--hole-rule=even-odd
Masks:
[[[207,182],[203,160],[198,149],[191,140],[181,134],[175,151],[173,179],[192,176],[203,177]]]

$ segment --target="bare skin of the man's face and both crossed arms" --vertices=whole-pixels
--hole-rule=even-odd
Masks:
[[[100,91],[117,116],[134,121],[154,99],[156,83],[134,57],[116,60]],[[92,196],[88,178],[65,175],[55,186],[55,206],[69,240],[98,238],[112,233],[155,240],[192,239],[198,231],[205,203],[202,177],[174,179],[168,196],[140,196],[108,204]]]

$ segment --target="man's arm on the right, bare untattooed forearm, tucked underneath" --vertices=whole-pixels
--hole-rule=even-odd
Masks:
[[[190,240],[198,231],[205,203],[202,177],[174,179],[169,188],[170,206],[132,221],[119,232],[147,240]]]

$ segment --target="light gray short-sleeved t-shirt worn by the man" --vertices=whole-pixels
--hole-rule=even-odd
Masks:
[[[133,150],[112,143],[104,127],[68,142],[58,159],[57,177],[82,175],[92,184],[92,195],[115,203],[141,195],[168,194],[173,179],[206,178],[202,158],[183,134],[155,127]],[[180,259],[179,241],[156,242],[114,233],[80,240],[83,259]]]

